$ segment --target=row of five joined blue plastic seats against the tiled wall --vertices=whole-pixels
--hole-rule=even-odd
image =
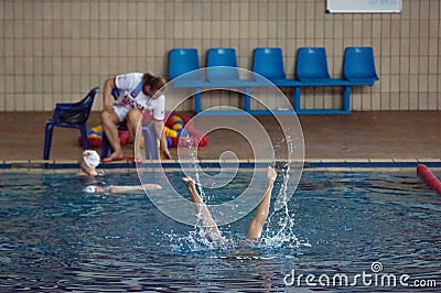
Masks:
[[[244,87],[245,110],[250,113],[267,113],[250,109],[250,88],[276,85],[293,87],[293,107],[297,113],[349,113],[353,86],[373,86],[378,76],[375,69],[374,51],[369,46],[346,47],[344,51],[343,77],[332,78],[327,68],[324,47],[300,47],[297,52],[295,78],[287,78],[283,54],[280,47],[257,47],[252,55],[251,78],[240,78],[235,48],[209,48],[206,69],[201,69],[196,48],[170,51],[169,78],[176,88],[195,89],[195,111],[201,112],[203,88]],[[262,77],[270,80],[262,82]],[[301,87],[343,87],[340,109],[301,109]]]

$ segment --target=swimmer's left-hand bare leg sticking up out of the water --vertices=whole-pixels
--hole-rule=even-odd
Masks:
[[[212,214],[209,214],[208,208],[202,202],[201,196],[197,194],[196,184],[194,180],[187,176],[183,177],[182,181],[185,183],[190,196],[192,197],[194,208],[196,209],[196,214],[200,216],[202,227],[205,230],[206,238],[212,241],[220,241],[222,240],[220,231],[217,228],[217,225],[214,221]]]

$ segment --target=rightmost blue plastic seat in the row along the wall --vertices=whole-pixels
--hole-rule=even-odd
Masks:
[[[375,70],[374,51],[369,46],[346,47],[343,61],[343,77],[349,82],[373,85],[378,80]]]

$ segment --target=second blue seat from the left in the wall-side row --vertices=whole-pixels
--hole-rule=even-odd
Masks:
[[[238,80],[236,50],[209,48],[207,52],[207,79],[211,83]]]

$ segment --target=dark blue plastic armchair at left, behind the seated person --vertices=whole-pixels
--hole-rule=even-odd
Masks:
[[[90,115],[92,106],[94,105],[95,96],[98,93],[98,87],[92,89],[86,97],[74,104],[58,102],[55,105],[55,110],[52,119],[47,120],[44,134],[44,153],[43,159],[49,160],[52,145],[52,133],[54,127],[75,128],[79,129],[83,141],[83,149],[89,148],[87,140],[87,120]]]

